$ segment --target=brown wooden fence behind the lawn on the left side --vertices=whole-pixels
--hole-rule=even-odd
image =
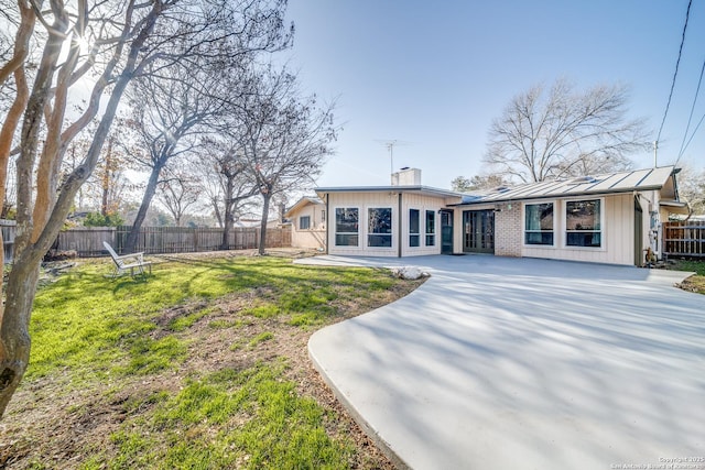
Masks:
[[[14,220],[1,220],[4,262],[12,262],[14,245]],[[63,230],[52,250],[74,250],[79,256],[106,256],[102,242],[110,243],[122,254],[130,232],[130,226],[122,227],[79,227]],[[258,228],[234,228],[228,240],[228,250],[256,249],[260,239]],[[223,245],[223,229],[186,227],[142,227],[138,238],[137,251],[148,254],[185,253],[196,251],[217,251]],[[267,248],[291,247],[291,227],[267,229]]]

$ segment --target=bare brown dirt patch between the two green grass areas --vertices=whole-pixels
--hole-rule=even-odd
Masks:
[[[223,253],[219,253],[220,256]],[[194,256],[196,258],[196,256]],[[336,323],[400,298],[423,281],[406,281],[373,302],[336,305]],[[177,369],[148,376],[108,378],[100,385],[72,387],[68,373],[22,383],[0,422],[0,469],[73,469],[91,455],[115,455],[110,435],[126,419],[148,413],[160,393],[177,393],[188,378],[232,368],[246,369],[258,361],[283,359],[286,376],[302,396],[315,400],[334,418],[325,423],[332,437],[351,439],[356,447],[349,468],[393,469],[393,464],[357,426],[313,368],[306,345],[317,328],[288,324],[286,316],[256,318],[242,310],[262,294],[256,291],[229,295],[214,303],[196,302],[165,309],[152,335],[174,335],[188,345],[188,359]],[[170,327],[182,317],[206,309],[207,314],[183,331]],[[206,430],[207,431],[207,430]]]

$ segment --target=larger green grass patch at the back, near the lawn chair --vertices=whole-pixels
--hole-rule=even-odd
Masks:
[[[143,364],[147,369],[165,362],[177,367],[178,348],[149,337],[158,328],[158,317],[170,307],[184,309],[166,325],[174,332],[208,316],[204,302],[232,293],[252,297],[239,317],[288,316],[292,325],[321,326],[335,317],[330,303],[340,296],[382,292],[395,282],[380,271],[299,266],[278,258],[161,264],[159,275],[149,280],[111,281],[105,272],[101,263],[88,263],[37,293],[28,379],[63,367],[132,373],[134,369],[113,364],[134,357],[139,362],[155,362]],[[202,308],[189,311],[188,303]]]

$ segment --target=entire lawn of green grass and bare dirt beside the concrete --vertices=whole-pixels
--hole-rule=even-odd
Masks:
[[[0,467],[389,464],[330,404],[305,343],[419,282],[273,256],[160,263],[137,280],[108,269],[83,262],[37,293]]]

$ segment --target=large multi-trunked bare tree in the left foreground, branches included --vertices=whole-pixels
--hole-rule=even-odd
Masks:
[[[213,44],[218,37],[238,44],[253,32],[262,41],[280,41],[284,0],[18,0],[3,14],[18,19],[14,48],[0,66],[0,85],[12,77],[12,105],[0,130],[0,189],[4,193],[13,138],[19,132],[14,264],[8,275],[0,314],[0,416],[24,375],[30,357],[29,324],[39,267],[54,242],[78,188],[96,167],[118,105],[130,81],[151,64],[163,69],[186,61],[167,50],[178,41],[186,50]],[[262,2],[263,3],[263,2]],[[42,32],[35,34],[40,24]],[[29,43],[41,54],[33,83],[28,83]],[[94,86],[83,113],[64,125],[70,89],[91,73]],[[3,88],[3,91],[8,88]],[[100,98],[108,94],[101,106]],[[98,116],[99,123],[82,163],[59,185],[67,145]],[[2,260],[0,260],[2,261]],[[0,262],[0,266],[2,263]],[[1,274],[1,273],[0,273]],[[3,276],[0,275],[0,280]],[[0,281],[1,282],[1,281]]]

